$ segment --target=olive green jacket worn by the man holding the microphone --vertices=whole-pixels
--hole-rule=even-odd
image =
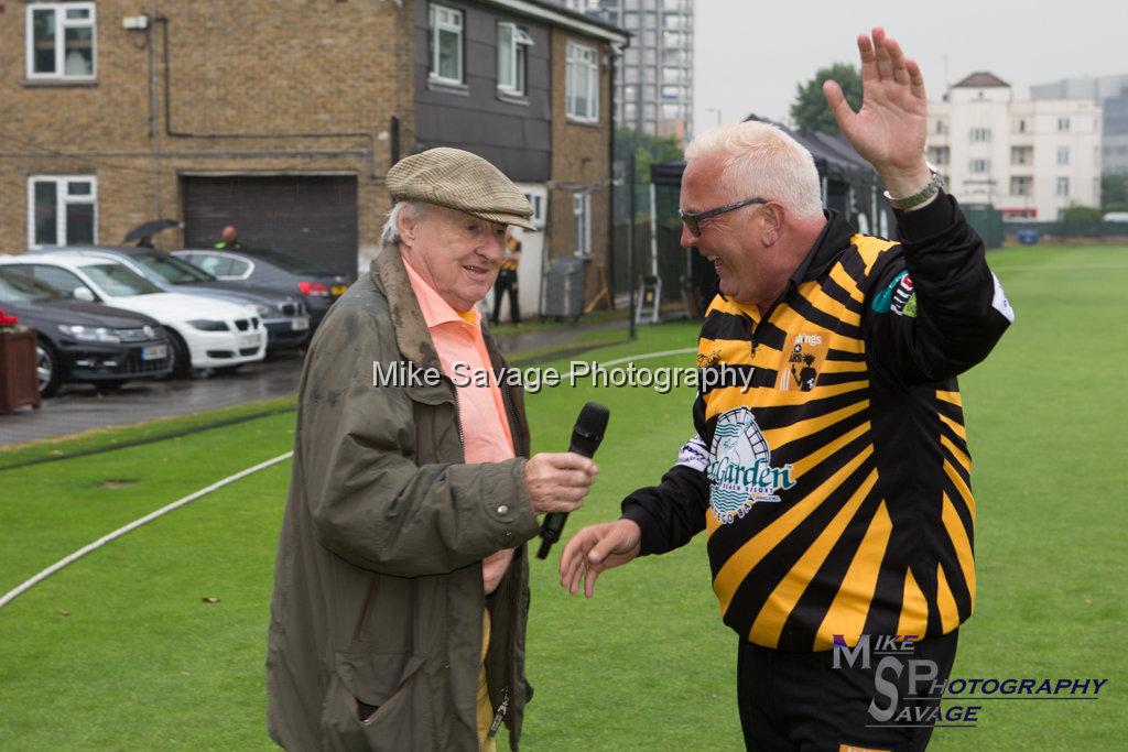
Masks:
[[[492,365],[503,365],[486,333]],[[518,457],[466,465],[455,390],[374,387],[373,362],[440,369],[398,249],[387,247],[314,337],[266,657],[267,727],[290,750],[477,750],[482,611],[486,676],[508,696],[515,750],[525,680],[529,432],[503,387]],[[485,598],[482,559],[517,556]],[[358,701],[378,709],[362,722]]]

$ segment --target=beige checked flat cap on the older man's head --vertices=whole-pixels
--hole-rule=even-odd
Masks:
[[[394,201],[455,209],[488,222],[536,231],[532,204],[500,169],[461,149],[439,147],[405,157],[388,170]]]

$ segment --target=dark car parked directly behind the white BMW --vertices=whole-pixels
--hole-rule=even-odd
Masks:
[[[184,292],[252,306],[266,327],[266,350],[276,352],[309,340],[310,317],[298,290],[217,280],[197,266],[168,251],[134,246],[67,246],[27,251],[30,254],[78,254],[112,258],[143,276],[165,292]]]

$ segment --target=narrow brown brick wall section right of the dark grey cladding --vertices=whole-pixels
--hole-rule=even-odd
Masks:
[[[569,39],[593,45],[599,52],[599,122],[578,123],[567,117],[565,103],[566,46]],[[553,30],[553,161],[548,194],[548,258],[574,258],[576,247],[573,196],[591,195],[591,260],[585,264],[584,300],[599,292],[598,265],[607,266],[610,221],[611,169],[611,51],[607,44],[563,29]]]

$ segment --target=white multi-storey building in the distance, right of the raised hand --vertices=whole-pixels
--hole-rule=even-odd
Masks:
[[[1010,87],[957,87],[928,107],[929,156],[942,158],[938,167],[959,201],[1049,220],[1068,206],[1100,205],[1101,110],[1094,103],[1013,101]],[[1067,126],[1059,127],[1061,118]],[[975,136],[984,131],[988,138]],[[1068,150],[1067,163],[1058,161],[1060,148]],[[1029,178],[1025,195],[1014,178]],[[1058,178],[1068,179],[1066,195]]]

